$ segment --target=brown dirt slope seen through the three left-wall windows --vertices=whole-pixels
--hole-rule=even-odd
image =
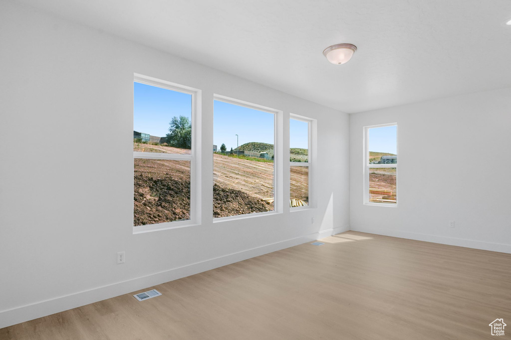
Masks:
[[[134,151],[185,154],[190,150],[134,143]],[[273,163],[213,154],[214,217],[273,210]],[[190,162],[134,160],[134,225],[190,219]],[[308,169],[293,167],[291,198],[307,202]]]

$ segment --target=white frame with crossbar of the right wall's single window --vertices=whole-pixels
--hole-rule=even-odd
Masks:
[[[396,126],[396,157],[395,164],[369,164],[369,129],[377,127]],[[364,126],[364,142],[363,142],[363,204],[374,206],[398,207],[398,165],[399,165],[399,126],[398,123],[386,123],[378,125]],[[381,203],[369,201],[369,169],[370,168],[396,168],[396,203]]]

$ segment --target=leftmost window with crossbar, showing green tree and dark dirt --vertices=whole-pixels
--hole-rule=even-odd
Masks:
[[[194,220],[195,95],[172,83],[135,76],[134,231]]]

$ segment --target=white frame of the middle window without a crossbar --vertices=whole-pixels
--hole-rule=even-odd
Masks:
[[[238,220],[238,219],[246,219],[252,217],[260,217],[260,216],[269,216],[282,214],[283,212],[283,148],[282,148],[282,122],[283,122],[283,111],[272,109],[266,106],[262,106],[259,104],[254,104],[248,101],[227,97],[220,94],[213,94],[213,102],[222,101],[228,104],[233,104],[241,107],[245,107],[252,110],[263,111],[266,113],[273,114],[273,211],[270,212],[262,212],[262,213],[251,213],[251,214],[243,214],[243,215],[235,215],[235,216],[226,216],[226,217],[212,217],[213,223]],[[213,112],[213,116],[215,116],[215,112]],[[213,123],[214,124],[214,123]],[[214,127],[213,127],[214,128]],[[213,159],[213,153],[212,153]],[[213,172],[215,171],[215,164],[213,164]],[[213,176],[212,172],[212,176]],[[214,181],[213,181],[214,184]],[[215,197],[211,201],[212,206],[215,204]]]

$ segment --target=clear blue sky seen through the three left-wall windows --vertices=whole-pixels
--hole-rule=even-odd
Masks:
[[[133,129],[137,132],[164,137],[169,132],[172,117],[191,119],[190,94],[134,83]],[[227,150],[236,148],[236,134],[240,144],[248,142],[274,143],[274,115],[248,109],[223,101],[214,102],[213,144],[225,143]],[[291,147],[307,148],[307,123],[290,121]]]

